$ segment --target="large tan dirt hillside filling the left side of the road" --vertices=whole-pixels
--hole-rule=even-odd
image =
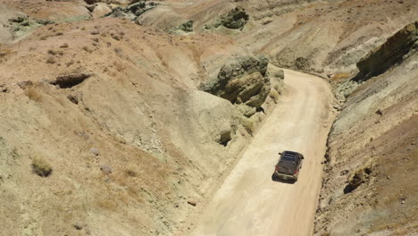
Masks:
[[[265,94],[256,109],[198,89],[203,62],[228,63],[230,47],[115,18],[38,26],[2,45],[0,234],[181,231],[274,105]],[[268,80],[258,73],[242,76]]]

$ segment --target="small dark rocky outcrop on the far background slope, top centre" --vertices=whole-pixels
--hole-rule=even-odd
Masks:
[[[218,21],[214,23],[214,27],[224,26],[232,30],[242,30],[249,20],[249,14],[241,7],[236,7],[230,13],[222,15]]]

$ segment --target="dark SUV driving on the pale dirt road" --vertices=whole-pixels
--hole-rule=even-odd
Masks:
[[[273,176],[283,180],[297,181],[299,170],[302,168],[304,156],[297,152],[284,151],[279,153],[280,159],[276,164]]]

